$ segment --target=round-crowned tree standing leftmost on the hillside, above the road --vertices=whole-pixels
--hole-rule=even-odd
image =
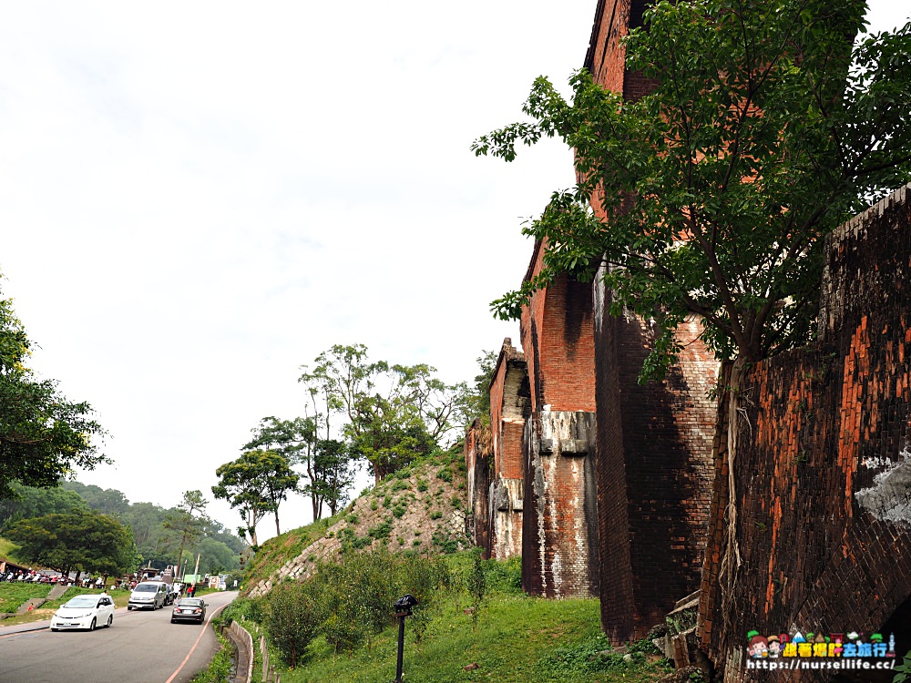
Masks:
[[[259,545],[256,525],[263,515],[275,514],[275,533],[281,534],[279,504],[300,480],[287,458],[274,451],[247,451],[237,460],[222,464],[215,474],[219,484],[212,486],[212,494],[238,508],[245,524],[239,531],[250,535],[254,548]]]

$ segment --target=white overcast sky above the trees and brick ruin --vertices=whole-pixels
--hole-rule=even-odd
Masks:
[[[333,343],[455,382],[517,342],[487,303],[570,157],[469,145],[581,66],[596,5],[3,4],[0,289],[34,366],[110,433],[116,464],[80,481],[210,493],[262,416],[301,413],[299,366]],[[908,14],[871,5],[876,27]]]

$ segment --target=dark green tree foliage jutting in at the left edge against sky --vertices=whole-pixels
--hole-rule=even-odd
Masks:
[[[0,295],[0,498],[12,496],[13,482],[56,486],[74,467],[107,462],[92,443],[104,432],[91,406],[38,380],[26,366],[31,347],[12,301]]]

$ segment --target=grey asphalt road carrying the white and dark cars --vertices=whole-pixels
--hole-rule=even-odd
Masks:
[[[49,621],[0,628],[3,683],[181,683],[209,666],[219,642],[209,622],[235,592],[203,596],[206,624],[171,624],[171,607],[125,607],[110,628],[51,633]],[[21,630],[29,628],[31,630]]]

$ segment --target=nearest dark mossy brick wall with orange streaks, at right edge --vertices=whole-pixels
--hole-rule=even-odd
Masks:
[[[729,499],[726,423],[720,426],[700,635],[725,680],[769,676],[743,669],[751,629],[895,628],[899,656],[911,648],[906,193],[828,242],[818,342],[757,364],[742,382],[746,418],[737,424],[733,465],[742,566],[732,591],[719,581]],[[818,671],[776,673],[783,681],[827,679]]]

